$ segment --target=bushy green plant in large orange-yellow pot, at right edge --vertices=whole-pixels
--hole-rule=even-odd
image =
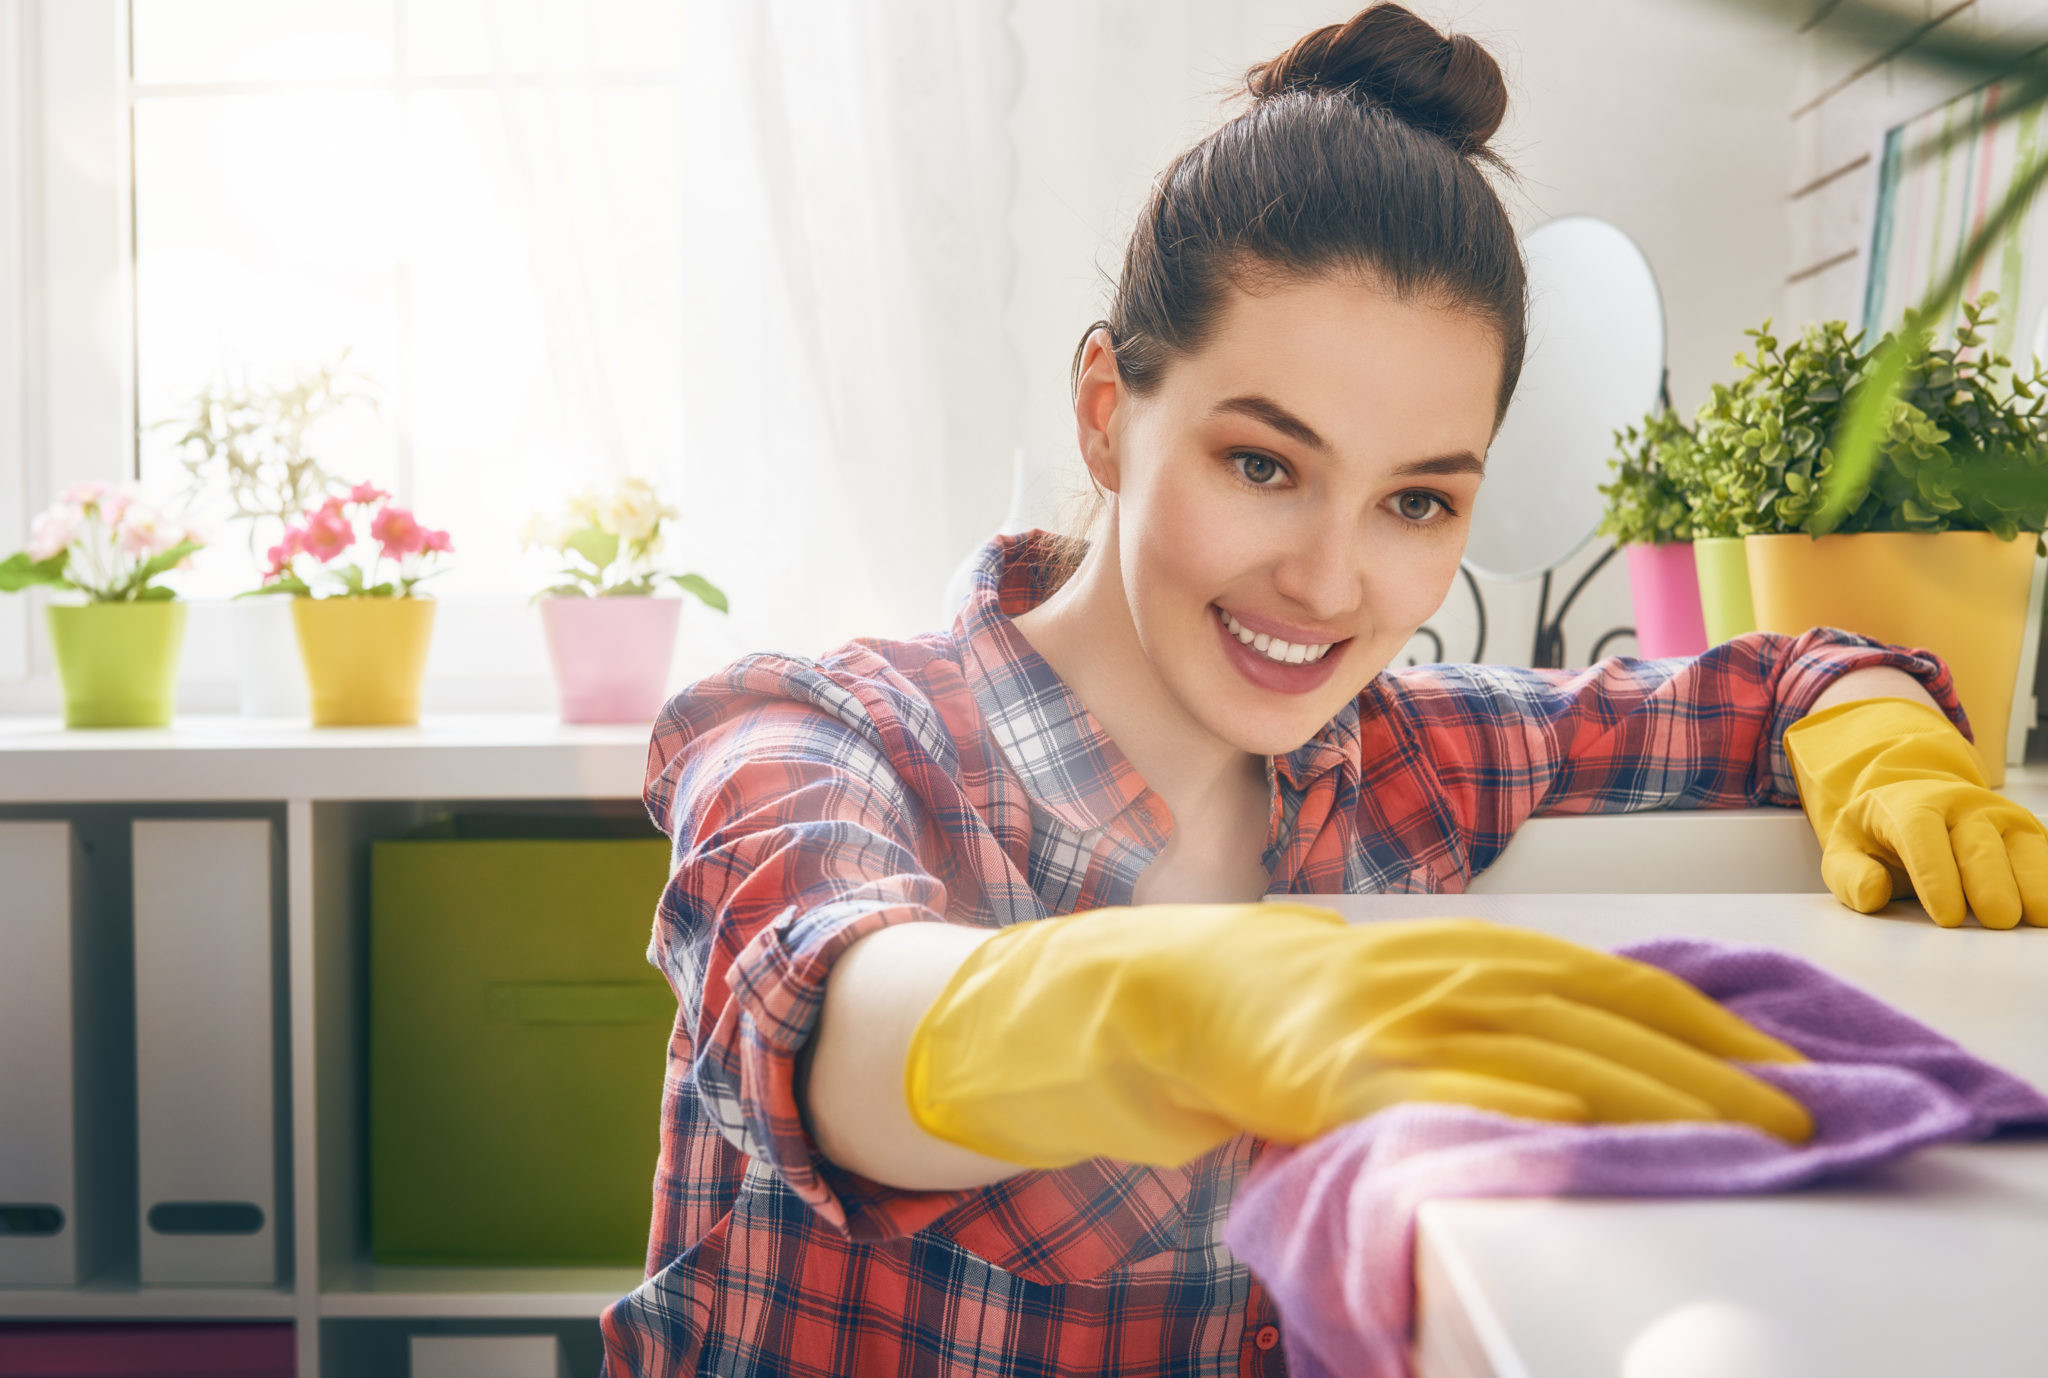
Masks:
[[[1741,514],[1757,627],[1841,627],[1948,661],[1985,774],[2005,729],[2040,530],[2048,522],[2048,375],[1989,348],[1997,301],[1964,305],[1952,344],[1911,321],[1864,348],[1841,321],[1780,348],[1763,332],[1733,405],[1700,424]],[[1905,360],[1878,463],[1827,504],[1835,436],[1872,362]]]

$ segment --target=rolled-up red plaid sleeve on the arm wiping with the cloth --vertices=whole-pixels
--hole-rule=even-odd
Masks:
[[[797,1061],[831,964],[891,923],[944,921],[922,811],[881,747],[813,706],[764,700],[700,731],[664,717],[647,809],[674,858],[647,958],[676,989],[702,1112],[856,1239],[922,1229],[965,1192],[905,1192],[827,1161]],[[680,1042],[680,1040],[678,1040]]]

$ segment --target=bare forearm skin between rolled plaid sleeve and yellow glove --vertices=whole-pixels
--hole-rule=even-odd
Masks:
[[[885,1186],[926,1192],[981,1188],[1024,1171],[924,1132],[903,1100],[903,1063],[918,1020],[993,934],[901,923],[840,954],[799,1087],[811,1136],[827,1159]]]

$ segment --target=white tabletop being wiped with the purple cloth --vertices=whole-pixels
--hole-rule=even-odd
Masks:
[[[1798,952],[2048,1087],[2048,930],[1937,930],[1825,895],[1399,895],[1356,919],[1479,915],[1618,946]],[[1462,1200],[1417,1233],[1421,1378],[2040,1378],[2048,1138],[1927,1149],[1802,1192]]]

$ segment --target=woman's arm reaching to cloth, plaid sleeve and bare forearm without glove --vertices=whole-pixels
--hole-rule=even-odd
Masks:
[[[723,1136],[823,1220],[854,1239],[893,1239],[965,1190],[895,1186],[938,1177],[918,1175],[918,1149],[858,1124],[907,1116],[909,1028],[989,930],[948,921],[948,891],[932,874],[946,844],[899,762],[858,725],[768,696],[778,684],[768,672],[741,665],[733,680],[750,678],[737,684],[680,694],[649,747],[649,815],[676,846],[651,944],[680,1003],[670,1079],[686,1081]],[[895,928],[918,932],[868,944]],[[950,952],[948,936],[963,952],[934,966],[924,954]],[[846,981],[840,962],[854,973]],[[842,1036],[848,1028],[858,1032]],[[811,1128],[807,1081],[825,1087],[825,1143]],[[946,1157],[946,1181],[1018,1171],[963,1175],[965,1151]]]

